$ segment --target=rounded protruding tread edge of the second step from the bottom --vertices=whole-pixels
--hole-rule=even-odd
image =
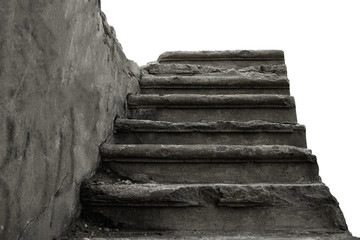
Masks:
[[[162,145],[162,144],[109,144],[100,146],[104,158],[146,158],[169,160],[252,160],[310,161],[316,162],[311,150],[286,145]]]

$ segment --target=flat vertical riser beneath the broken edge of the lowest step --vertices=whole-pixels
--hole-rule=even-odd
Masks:
[[[84,207],[121,229],[194,231],[267,231],[338,229],[333,206],[288,207]],[[102,217],[100,217],[102,216]],[[102,221],[103,222],[103,221]],[[342,223],[340,223],[342,224]]]

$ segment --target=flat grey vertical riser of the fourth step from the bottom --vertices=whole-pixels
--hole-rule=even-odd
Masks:
[[[294,108],[151,108],[139,107],[129,109],[129,118],[157,121],[252,121],[296,123]]]

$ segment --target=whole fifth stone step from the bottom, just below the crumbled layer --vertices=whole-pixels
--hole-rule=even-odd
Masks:
[[[261,73],[238,76],[145,75],[140,86],[142,94],[290,94],[287,77]]]

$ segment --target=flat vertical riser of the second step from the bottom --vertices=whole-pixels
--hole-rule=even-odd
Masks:
[[[106,160],[106,159],[105,159]],[[122,159],[124,161],[125,159]],[[141,161],[143,159],[139,159]],[[103,162],[119,178],[157,183],[305,183],[319,182],[314,162]],[[151,159],[149,159],[151,161]],[[209,160],[211,161],[211,160]]]

